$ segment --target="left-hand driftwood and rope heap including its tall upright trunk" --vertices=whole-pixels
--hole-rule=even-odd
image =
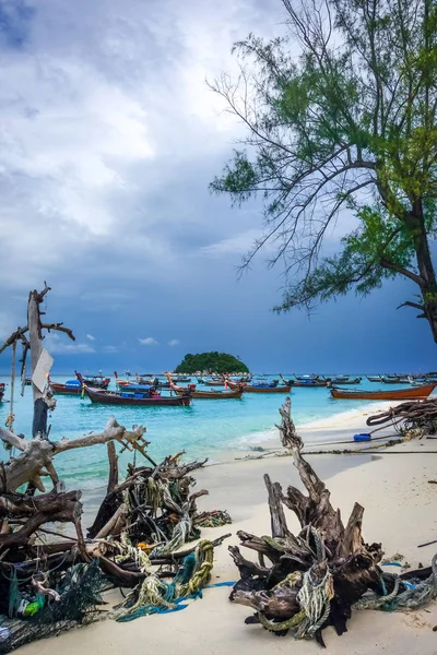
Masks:
[[[0,462],[0,653],[102,618],[132,620],[181,609],[182,600],[198,597],[208,585],[214,548],[231,536],[202,539],[182,550],[201,538],[201,527],[231,523],[225,511],[198,510],[198,499],[208,491],[192,490],[192,474],[208,460],[184,462],[180,452],[157,464],[146,451],[145,427],[127,429],[114,416],[102,432],[48,439],[54,400],[46,382],[52,360],[42,347],[42,331],[74,338],[62,323],[42,322],[40,305],[48,291],[47,285],[42,293],[31,291],[28,324],[0,347],[1,353],[12,345],[14,354],[16,344],[23,344],[23,377],[31,352],[34,391],[32,439],[13,431],[11,415],[7,428],[0,428],[8,453],[8,461]],[[105,443],[107,491],[85,536],[82,493],[66,490],[56,456]],[[122,481],[117,445],[133,455]],[[145,465],[137,465],[137,455]],[[60,523],[73,529],[60,532]],[[101,593],[108,585],[130,590],[111,611],[101,608]]]

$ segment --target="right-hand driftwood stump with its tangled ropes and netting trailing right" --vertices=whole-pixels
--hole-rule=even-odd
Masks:
[[[379,567],[381,544],[368,545],[362,536],[364,508],[355,503],[344,525],[329,489],[304,458],[290,397],[280,414],[281,442],[293,456],[307,496],[293,486],[284,492],[264,475],[272,536],[237,533],[240,546],[258,553],[258,562],[245,559],[239,547],[229,547],[240,573],[229,598],[255,610],[246,623],[259,623],[279,635],[292,631],[296,639],[314,638],[324,646],[322,630],[332,624],[343,634],[353,608],[417,608],[436,597],[437,556],[427,569],[401,575],[385,572]],[[287,527],[284,507],[299,521],[297,535]]]

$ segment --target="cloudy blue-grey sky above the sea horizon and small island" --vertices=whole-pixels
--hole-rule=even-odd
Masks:
[[[436,368],[427,324],[395,309],[409,282],[307,317],[271,311],[284,279],[268,253],[238,281],[261,205],[208,190],[243,127],[205,81],[284,20],[280,0],[0,0],[0,338],[47,281],[47,320],[76,335],[47,337],[55,372],[157,372],[204,350],[259,371]]]

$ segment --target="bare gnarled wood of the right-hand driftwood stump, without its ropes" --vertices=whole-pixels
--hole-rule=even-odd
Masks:
[[[340,511],[331,504],[329,489],[302,455],[304,444],[291,418],[290,398],[280,413],[282,424],[277,427],[281,441],[291,451],[308,496],[295,487],[288,487],[284,495],[277,483],[272,484],[270,477],[264,476],[272,538],[246,532],[237,534],[241,546],[267,557],[272,565],[268,569],[267,565],[250,563],[241,557],[238,548],[232,549],[231,555],[241,579],[235,585],[231,599],[257,610],[257,617],[261,614],[268,619],[284,621],[302,614],[298,593],[303,574],[310,570],[311,580],[321,583],[328,571],[332,576],[334,596],[330,600],[328,620],[315,631],[317,641],[322,644],[321,628],[331,622],[342,634],[346,630],[352,605],[369,588],[381,593],[382,573],[377,563],[382,551],[380,544],[368,546],[364,543],[364,508],[358,503],[354,505],[344,528]],[[299,535],[290,533],[283,505],[296,514],[302,526]],[[321,605],[320,611],[323,608],[324,605]],[[257,617],[249,617],[247,622],[259,621]]]

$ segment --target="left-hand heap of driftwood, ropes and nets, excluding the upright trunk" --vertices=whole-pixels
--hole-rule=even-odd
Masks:
[[[181,550],[186,543],[201,537],[201,527],[217,527],[232,521],[226,511],[199,512],[197,508],[197,500],[208,491],[192,491],[192,473],[206,460],[182,462],[185,453],[180,452],[155,466],[130,464],[127,477],[119,483],[116,443],[128,440],[132,444],[134,436],[143,433],[144,428],[139,426],[126,430],[113,417],[101,434],[50,442],[51,456],[72,443],[73,448],[84,448],[107,442],[107,493],[86,537],[80,519],[80,491],[61,490],[59,480],[48,493],[29,496],[9,490],[8,484],[14,487],[11,480],[15,480],[9,471],[13,460],[2,464],[1,653],[83,622],[107,617],[130,621],[156,611],[181,609],[186,607],[184,600],[198,597],[209,584],[214,548],[229,535],[203,539]],[[72,523],[75,537],[45,527],[57,522]],[[46,534],[62,540],[49,541]],[[87,574],[88,569],[94,573]],[[80,585],[82,593],[87,588],[84,580],[88,576],[93,588],[81,595],[79,605],[74,596],[73,607],[68,600],[72,598],[71,590]],[[131,591],[113,611],[102,615],[96,606],[108,583]]]

